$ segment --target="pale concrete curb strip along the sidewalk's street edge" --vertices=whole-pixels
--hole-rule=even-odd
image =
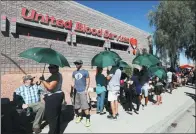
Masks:
[[[177,108],[172,114],[167,116],[164,120],[159,121],[157,124],[149,127],[144,131],[144,133],[162,133],[167,130],[173,121],[180,117],[187,109],[189,109],[195,102],[187,100],[181,107]]]

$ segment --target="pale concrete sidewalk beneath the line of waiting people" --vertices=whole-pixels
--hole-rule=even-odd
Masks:
[[[167,125],[172,118],[182,110],[186,110],[195,101],[185,94],[185,92],[195,95],[195,89],[180,87],[173,91],[173,94],[163,94],[163,104],[152,105],[151,102],[144,110],[140,109],[140,114],[127,114],[122,107],[119,107],[119,118],[117,121],[108,120],[106,115],[92,115],[91,126],[85,127],[85,120],[79,124],[72,121],[68,124],[64,133],[144,133],[156,132],[156,129]],[[169,125],[169,124],[168,124]],[[48,132],[46,126],[42,133]]]

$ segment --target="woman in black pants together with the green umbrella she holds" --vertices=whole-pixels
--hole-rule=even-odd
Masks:
[[[49,64],[49,72],[51,76],[45,80],[44,76],[40,77],[40,82],[48,91],[45,95],[45,115],[46,120],[49,123],[48,134],[60,133],[60,114],[61,106],[64,98],[62,92],[62,75],[59,73],[59,67],[65,67],[69,65],[67,59],[59,52],[46,47],[33,47],[27,49],[19,54],[20,57],[32,59],[38,63],[45,63],[43,74],[46,64]],[[62,132],[61,132],[62,133]]]

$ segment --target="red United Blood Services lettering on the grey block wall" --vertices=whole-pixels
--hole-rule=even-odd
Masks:
[[[73,28],[72,20],[64,21],[62,19],[56,19],[54,16],[49,16],[48,14],[44,16],[40,13],[37,13],[37,11],[35,11],[34,9],[28,11],[25,7],[23,7],[21,15],[25,20],[28,21],[40,22],[41,24],[47,24],[47,25],[50,24],[51,26],[65,28],[67,30],[72,30]],[[122,35],[114,34],[108,30],[91,28],[81,22],[76,22],[74,31],[86,33],[93,36],[104,37],[106,39],[116,40],[127,44],[131,44],[132,42],[131,40],[134,39],[134,38],[128,38]]]

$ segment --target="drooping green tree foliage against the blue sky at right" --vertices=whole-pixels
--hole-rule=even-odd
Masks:
[[[178,53],[185,49],[189,58],[196,60],[195,1],[161,1],[148,14],[150,26],[155,27],[157,51],[167,51],[174,67]]]

